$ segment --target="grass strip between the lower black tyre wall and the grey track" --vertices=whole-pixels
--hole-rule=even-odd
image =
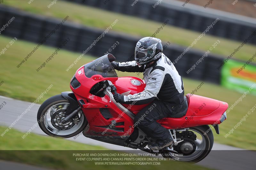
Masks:
[[[9,37],[0,36],[0,49],[4,48],[10,40],[11,38]],[[76,66],[67,72],[67,67],[80,54],[61,50],[42,70],[36,72],[36,68],[55,50],[52,47],[41,46],[26,63],[17,68],[16,66],[35,45],[34,43],[18,40],[5,51],[4,55],[0,56],[0,81],[4,81],[4,84],[0,87],[0,95],[33,102],[50,84],[53,84],[52,89],[40,100],[39,103],[42,103],[47,98],[60,94],[62,91],[70,91],[69,81],[76,72],[76,69],[94,59],[86,55],[86,57],[79,60]],[[116,57],[118,58],[118,56]],[[137,76],[136,73],[117,73],[118,76]],[[140,78],[141,76],[142,74],[140,74]],[[192,90],[201,84],[201,81],[186,78],[183,78],[183,81],[185,94],[191,93]],[[196,94],[225,101],[229,106],[234,104],[242,95],[236,91],[207,82],[204,82],[204,85]],[[251,114],[228,138],[224,137],[255,104],[255,96],[252,95],[247,95],[242,102],[239,102],[228,113],[228,119],[220,124],[220,135],[217,135],[215,132],[213,133],[215,142],[256,150],[254,137],[256,132],[253,128],[256,121],[255,114]]]

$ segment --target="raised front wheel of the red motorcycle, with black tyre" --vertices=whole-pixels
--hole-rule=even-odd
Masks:
[[[73,137],[80,132],[87,125],[87,120],[83,111],[79,111],[75,118],[62,123],[66,115],[69,101],[61,95],[56,95],[47,99],[39,108],[37,112],[37,122],[39,127],[47,135],[60,138]],[[74,123],[74,119],[78,122]]]

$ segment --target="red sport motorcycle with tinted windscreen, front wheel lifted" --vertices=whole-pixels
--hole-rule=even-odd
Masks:
[[[135,94],[146,84],[137,77],[118,77],[110,62],[112,54],[102,56],[80,67],[70,82],[72,92],[47,99],[39,108],[37,121],[50,136],[69,138],[83,131],[83,135],[149,153],[149,138],[134,124],[134,116],[148,104],[116,103],[112,93]],[[226,120],[228,104],[215,99],[187,94],[179,113],[158,120],[170,130],[173,144],[158,153],[198,162],[212,149],[212,125],[219,134],[219,124]],[[152,104],[149,108],[157,107]],[[179,154],[172,154],[179,153]],[[178,155],[178,156],[176,156]]]

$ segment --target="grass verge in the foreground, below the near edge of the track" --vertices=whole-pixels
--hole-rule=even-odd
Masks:
[[[0,132],[4,131],[6,127],[0,126]],[[208,168],[192,165],[186,162],[177,161],[154,161],[160,162],[161,165],[148,166],[95,166],[94,161],[76,161],[76,158],[84,158],[73,156],[74,153],[122,153],[118,151],[107,151],[100,146],[92,146],[82,143],[76,143],[64,139],[53,138],[50,136],[42,136],[30,134],[25,139],[21,136],[24,133],[17,130],[10,130],[4,137],[0,137],[0,159],[25,163],[29,165],[54,168],[60,170],[70,169],[115,169],[122,167],[123,170],[134,169],[139,170],[142,167],[146,169],[167,169],[170,166],[177,169],[191,169],[191,170],[208,170]],[[86,138],[85,138],[86,140]],[[4,150],[4,151],[3,151]],[[13,151],[16,150],[16,151]],[[87,151],[84,151],[87,150]],[[105,151],[103,151],[105,150]],[[89,157],[89,158],[92,158]],[[97,162],[97,161],[95,161]],[[99,161],[98,161],[99,162]],[[107,162],[107,161],[103,161]],[[111,161],[115,162],[115,161]],[[134,161],[138,162],[138,161]],[[150,161],[147,161],[150,162]]]

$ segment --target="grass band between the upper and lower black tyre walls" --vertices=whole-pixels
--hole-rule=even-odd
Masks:
[[[113,27],[114,31],[140,37],[153,35],[157,28],[161,27],[163,24],[66,1],[58,1],[50,9],[47,5],[49,5],[52,0],[33,1],[31,4],[28,4],[27,2],[27,0],[8,0],[4,1],[3,4],[27,12],[59,18],[61,20],[68,15],[70,17],[68,19],[69,21],[104,30],[118,19],[117,24]],[[156,35],[156,37],[162,39],[164,42],[169,41],[188,47],[200,34],[201,32],[189,31],[180,27],[167,25]],[[248,36],[251,35],[249,32],[247,34]],[[231,55],[234,49],[241,44],[241,42],[205,35],[193,48],[207,51],[217,40],[220,40],[220,44],[211,52],[219,54],[225,58]],[[243,46],[233,58],[248,60],[253,54],[255,54],[255,45],[247,44]],[[255,60],[253,62],[255,63]]]

